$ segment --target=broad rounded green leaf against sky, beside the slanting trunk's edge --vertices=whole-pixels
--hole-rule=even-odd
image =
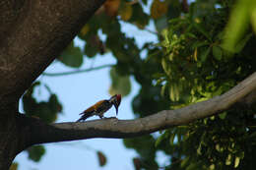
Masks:
[[[71,43],[58,58],[66,66],[78,68],[83,63],[83,53],[79,47]]]

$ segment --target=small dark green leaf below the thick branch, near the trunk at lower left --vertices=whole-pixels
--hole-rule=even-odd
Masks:
[[[38,162],[45,153],[45,148],[42,145],[34,145],[28,148],[27,151],[29,152],[29,158],[34,162]]]

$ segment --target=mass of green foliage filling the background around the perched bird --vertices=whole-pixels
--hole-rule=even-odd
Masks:
[[[84,48],[71,43],[58,60],[77,68],[83,55],[111,52],[117,63],[110,72],[109,92],[127,95],[133,76],[141,85],[132,103],[137,117],[180,108],[222,94],[255,72],[255,9],[253,0],[107,0],[78,34],[86,42]],[[123,23],[147,31],[151,22],[158,43],[139,47],[122,31]],[[32,95],[36,85],[23,97],[24,110],[53,122],[61,104],[51,92],[48,101],[37,102]],[[218,116],[124,144],[138,152],[136,169],[158,169],[158,151],[170,155],[164,169],[253,169],[255,121],[255,108],[237,105]],[[103,166],[104,156],[97,154]]]

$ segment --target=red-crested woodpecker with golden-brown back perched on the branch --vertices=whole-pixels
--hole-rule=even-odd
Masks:
[[[87,118],[91,116],[98,116],[100,119],[103,118],[103,114],[109,110],[112,105],[115,107],[116,115],[118,114],[118,107],[121,102],[121,94],[115,94],[111,96],[108,100],[100,100],[97,101],[96,104],[86,109],[84,112],[80,113],[79,115],[82,115],[77,122],[85,121]]]

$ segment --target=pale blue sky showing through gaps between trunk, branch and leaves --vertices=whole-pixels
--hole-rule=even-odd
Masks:
[[[129,24],[122,24],[122,31],[128,36],[134,36],[139,46],[146,41],[157,42],[156,35],[149,31],[142,31]],[[154,30],[151,23],[149,29]],[[103,37],[103,36],[102,36]],[[77,38],[76,44],[83,46]],[[96,59],[84,58],[81,70],[91,67],[115,64],[116,60],[107,53],[103,56],[96,56]],[[72,68],[64,66],[62,63],[55,61],[45,71],[45,73],[60,73],[74,71]],[[97,100],[109,98],[108,87],[111,85],[109,76],[110,68],[92,71],[83,74],[76,74],[63,77],[40,76],[38,78],[43,84],[48,85],[52,92],[56,93],[63,105],[63,114],[60,114],[58,122],[72,122],[80,118],[79,113],[87,107],[96,103]],[[122,98],[119,107],[118,119],[133,119],[131,102],[133,97],[138,93],[140,86],[131,78],[132,90],[128,96]],[[48,92],[43,85],[35,90],[38,100],[48,97]],[[22,111],[22,107],[21,111]],[[105,114],[106,117],[115,116],[114,107]],[[90,120],[98,117],[89,118]],[[127,149],[122,140],[116,139],[91,139],[75,142],[54,142],[43,144],[46,153],[38,163],[28,159],[28,153],[22,152],[16,158],[15,162],[19,163],[19,170],[69,170],[69,169],[100,169],[100,170],[132,170],[134,169],[132,158],[137,156],[136,151]],[[96,156],[96,151],[103,152],[107,158],[105,166],[100,167]],[[160,162],[164,162],[163,153],[159,152]]]

